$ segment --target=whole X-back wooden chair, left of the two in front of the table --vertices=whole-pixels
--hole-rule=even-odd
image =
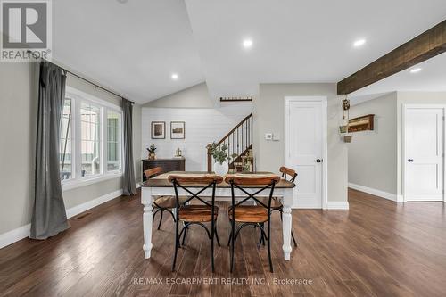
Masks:
[[[175,188],[175,196],[177,198],[176,210],[178,214],[177,221],[175,222],[175,255],[172,263],[172,271],[175,271],[178,247],[181,247],[179,243],[181,235],[183,235],[182,244],[184,245],[189,227],[191,225],[199,225],[206,230],[211,240],[211,267],[212,272],[214,272],[214,237],[220,246],[219,235],[217,233],[219,207],[215,205],[215,187],[223,181],[223,177],[217,175],[171,175],[169,176],[169,181]],[[207,189],[211,189],[211,203],[202,198],[202,193]],[[179,191],[186,192],[186,200],[180,201],[179,198],[181,196],[179,195]],[[199,204],[191,202],[198,202]],[[179,231],[179,221],[182,221],[184,224],[181,231]],[[204,223],[211,223],[211,232]]]

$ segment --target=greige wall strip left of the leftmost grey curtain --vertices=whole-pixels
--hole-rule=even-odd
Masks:
[[[29,62],[0,66],[0,234],[30,222],[37,123],[34,66]]]

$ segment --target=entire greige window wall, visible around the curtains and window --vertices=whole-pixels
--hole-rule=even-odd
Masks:
[[[37,122],[38,65],[33,62],[4,62],[0,67],[0,243],[2,236],[30,222],[34,203],[34,170]],[[120,98],[70,77],[67,83],[111,103]],[[139,181],[141,155],[141,108],[134,107],[134,155]],[[121,178],[64,191],[67,209],[117,193]],[[23,236],[26,236],[24,234]]]

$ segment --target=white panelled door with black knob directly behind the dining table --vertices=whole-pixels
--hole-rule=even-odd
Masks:
[[[285,166],[297,171],[293,206],[322,208],[322,101],[287,100],[285,106]]]

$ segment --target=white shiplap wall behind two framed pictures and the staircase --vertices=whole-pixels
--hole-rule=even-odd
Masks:
[[[252,103],[234,103],[218,109],[149,108],[142,111],[142,159],[147,158],[151,144],[158,158],[171,158],[179,147],[186,158],[186,170],[207,169],[206,145],[227,134],[252,112]],[[170,121],[186,122],[186,139],[170,139]],[[151,139],[151,122],[166,122],[166,139]]]

